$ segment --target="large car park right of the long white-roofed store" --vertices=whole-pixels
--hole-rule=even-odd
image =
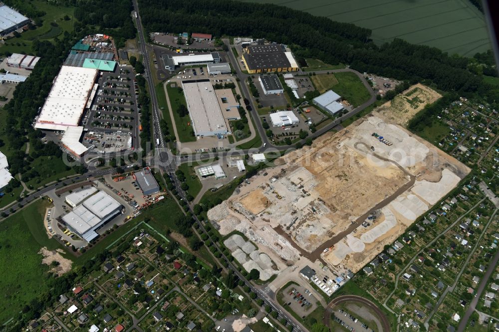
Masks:
[[[116,152],[137,146],[140,105],[137,105],[138,87],[134,79],[130,66],[118,66],[114,72],[101,72],[99,89],[82,121],[88,129],[83,141],[85,145],[95,145],[99,152]],[[132,138],[131,142],[129,138]]]

